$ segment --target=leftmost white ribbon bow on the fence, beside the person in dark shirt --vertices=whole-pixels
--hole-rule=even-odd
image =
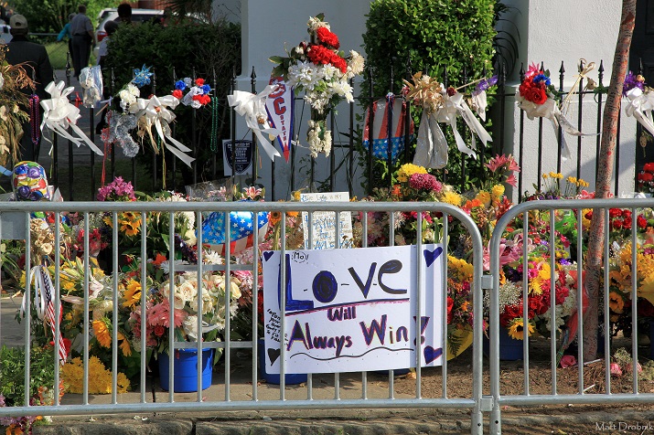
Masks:
[[[54,81],[50,81],[48,86],[46,86],[46,91],[52,96],[50,100],[42,100],[41,107],[44,110],[43,113],[43,122],[41,122],[41,130],[44,126],[47,126],[50,130],[55,133],[58,133],[59,136],[64,139],[68,139],[70,142],[80,146],[81,143],[86,143],[89,145],[89,148],[98,155],[102,154],[100,148],[95,146],[95,143],[91,142],[91,139],[88,138],[84,132],[81,131],[78,127],[77,120],[80,119],[80,109],[75,107],[74,104],[70,104],[68,96],[74,90],[73,87],[64,89],[64,82],[59,81],[58,84],[55,84]],[[77,134],[77,137],[68,133],[68,128],[72,129],[73,133]],[[50,150],[51,152],[51,150]]]

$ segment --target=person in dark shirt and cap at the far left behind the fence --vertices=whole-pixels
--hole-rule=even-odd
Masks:
[[[40,44],[30,42],[27,40],[27,20],[25,16],[13,15],[9,19],[9,26],[11,27],[12,40],[7,44],[6,61],[10,65],[23,65],[23,69],[27,72],[36,84],[36,94],[39,101],[49,98],[46,92],[46,86],[54,80],[54,73],[48,58],[48,51]],[[24,93],[31,94],[32,90],[24,89]],[[24,108],[29,113],[29,108]],[[43,114],[43,110],[38,104],[39,115]],[[40,118],[40,116],[39,116]],[[23,138],[20,141],[20,152],[23,160],[37,161],[38,151],[41,143],[41,135],[38,132],[40,127],[38,120],[32,120],[23,123]],[[32,128],[33,127],[33,128]],[[32,132],[35,132],[35,137],[32,137]]]

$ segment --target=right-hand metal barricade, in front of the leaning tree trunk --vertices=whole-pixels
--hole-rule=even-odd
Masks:
[[[604,379],[605,383],[604,391],[599,393],[589,392],[589,390],[594,389],[595,384],[591,386],[584,385],[584,364],[578,364],[577,370],[577,392],[576,394],[559,394],[557,385],[557,366],[559,366],[559,359],[561,357],[561,346],[559,342],[561,338],[556,332],[556,328],[551,327],[550,332],[550,367],[552,371],[551,384],[552,384],[552,393],[551,394],[531,394],[531,383],[530,383],[530,337],[527,333],[529,326],[526,322],[523,321],[523,336],[524,336],[524,347],[522,352],[522,368],[523,368],[523,391],[522,394],[502,394],[501,385],[500,385],[500,338],[499,338],[499,328],[500,328],[500,274],[502,269],[500,266],[500,254],[503,253],[501,244],[504,242],[503,237],[506,235],[507,228],[517,230],[520,233],[519,237],[522,240],[527,240],[531,238],[533,241],[536,238],[541,239],[541,246],[547,249],[546,255],[543,257],[547,263],[549,263],[549,282],[550,282],[550,294],[556,292],[556,283],[559,279],[556,271],[557,265],[560,261],[557,260],[557,255],[555,250],[557,238],[560,239],[558,233],[557,225],[562,220],[562,213],[568,211],[569,213],[574,213],[573,221],[569,221],[571,224],[574,223],[576,228],[579,230],[576,232],[575,240],[571,240],[573,244],[576,244],[576,254],[572,255],[572,259],[576,262],[576,265],[572,265],[572,270],[576,273],[577,289],[584,289],[584,292],[587,289],[584,287],[586,278],[584,277],[584,237],[583,233],[586,231],[584,228],[584,214],[587,213],[587,210],[593,210],[594,213],[603,213],[605,217],[605,229],[604,229],[604,242],[603,242],[603,263],[602,263],[602,276],[603,279],[600,281],[599,287],[599,296],[600,296],[600,312],[603,313],[600,322],[604,325],[609,325],[609,266],[610,266],[610,255],[614,253],[616,246],[612,246],[611,240],[609,238],[609,232],[611,230],[611,225],[609,225],[609,210],[610,209],[627,209],[630,211],[629,220],[630,224],[627,226],[630,229],[630,235],[626,239],[627,243],[631,244],[631,247],[637,246],[637,228],[638,228],[638,210],[642,210],[645,207],[654,207],[654,199],[651,198],[629,198],[629,199],[618,199],[618,198],[609,198],[609,199],[581,199],[581,200],[547,200],[547,201],[531,201],[522,203],[516,207],[512,207],[509,211],[502,216],[497,223],[497,226],[493,232],[492,239],[489,245],[489,254],[490,254],[490,278],[492,285],[488,286],[487,291],[490,292],[489,295],[489,335],[490,335],[490,348],[489,348],[489,366],[490,366],[490,394],[492,396],[493,405],[490,415],[490,433],[497,434],[501,432],[501,407],[510,405],[510,406],[542,406],[542,405],[568,405],[568,404],[598,404],[598,403],[654,403],[654,394],[651,393],[641,393],[638,390],[638,370],[631,370],[632,378],[632,388],[629,393],[614,393],[611,391],[611,353],[610,353],[610,341],[608,327],[605,326],[605,334],[603,339],[604,352],[600,353],[598,351],[598,358],[604,358]],[[569,216],[570,217],[570,216]],[[614,217],[614,215],[611,215]],[[632,218],[633,217],[633,218]],[[536,222],[537,220],[542,220],[546,223],[544,227],[540,228],[538,234],[532,232],[533,229],[530,228],[530,224]],[[554,223],[554,225],[552,225]],[[513,233],[515,234],[515,232]],[[535,242],[534,242],[535,243]],[[530,265],[528,261],[529,250],[528,243],[522,243],[520,249],[520,264],[522,271],[528,271]],[[632,361],[638,361],[638,261],[637,261],[637,249],[631,249],[630,254],[631,260],[631,286],[630,286],[630,298],[632,301],[631,305],[631,315],[632,315],[632,338],[631,338],[631,347]],[[517,281],[518,286],[521,285],[521,300],[522,303],[522,319],[530,318],[530,300],[533,298],[529,286],[531,285],[532,278],[528,278],[527,273],[522,273],[519,277],[520,281]],[[603,282],[602,282],[603,281]],[[520,284],[521,283],[521,284]],[[552,290],[553,289],[553,290]],[[577,292],[577,294],[579,294]],[[575,296],[576,297],[576,296]],[[584,313],[585,310],[584,296],[576,297],[576,313]],[[550,298],[549,301],[549,313],[547,316],[550,317],[550,324],[556,324],[556,298]],[[572,324],[571,324],[572,329]],[[578,316],[578,349],[576,359],[577,361],[584,361],[584,315]],[[574,334],[574,333],[571,333]],[[598,334],[599,335],[599,334]],[[572,337],[570,337],[572,338]],[[599,339],[598,339],[599,340]],[[557,355],[558,354],[558,355]],[[520,358],[518,358],[520,359]],[[599,361],[594,361],[598,363]],[[589,362],[585,362],[589,363]],[[638,363],[632,363],[632,367],[637,367]],[[601,391],[601,390],[600,390]]]

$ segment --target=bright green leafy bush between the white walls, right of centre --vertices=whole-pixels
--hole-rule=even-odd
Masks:
[[[374,95],[385,95],[391,90],[391,70],[392,90],[396,94],[402,89],[402,79],[408,79],[410,74],[417,71],[423,71],[439,81],[445,80],[446,73],[447,83],[455,87],[484,77],[485,69],[491,75],[496,3],[496,0],[373,2],[363,35],[371,70],[366,70],[362,89],[368,90],[372,80]],[[419,112],[414,108],[416,133]],[[464,174],[456,145],[452,138],[448,139],[450,163],[446,168],[447,182],[458,186],[477,183],[481,165],[468,166]],[[398,165],[402,163],[405,162],[400,161]],[[373,166],[373,179],[368,180],[370,185],[389,185],[386,166],[386,162],[379,161]],[[396,168],[391,168],[391,173],[393,169]]]

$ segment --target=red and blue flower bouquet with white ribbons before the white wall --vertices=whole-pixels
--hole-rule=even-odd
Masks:
[[[534,63],[531,64],[524,80],[516,92],[518,107],[525,112],[530,120],[534,118],[546,118],[552,122],[554,133],[558,136],[559,128],[563,132],[573,136],[594,136],[596,133],[581,133],[574,128],[559,107],[556,98],[558,94],[550,80],[550,71],[542,70]],[[565,136],[561,136],[561,157],[563,160],[570,158],[570,149],[565,142]]]

